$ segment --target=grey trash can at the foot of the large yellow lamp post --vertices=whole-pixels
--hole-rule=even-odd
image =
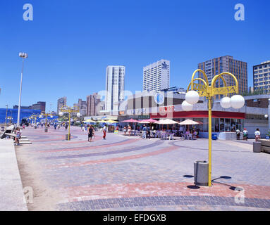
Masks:
[[[208,186],[208,162],[194,162],[194,184],[198,186]]]

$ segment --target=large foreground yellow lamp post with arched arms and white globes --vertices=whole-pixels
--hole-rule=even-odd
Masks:
[[[197,72],[201,72],[204,79],[202,78],[195,78],[195,74]],[[228,75],[233,78],[235,81],[235,85],[232,86],[227,86],[226,85],[226,77],[224,78],[223,75]],[[221,79],[223,81],[223,87],[216,87],[216,82],[218,79]],[[195,81],[200,81],[200,83],[195,83]],[[191,90],[190,90],[191,89]],[[189,91],[190,90],[190,91]],[[188,85],[188,90],[187,94],[185,96],[185,101],[182,103],[182,108],[185,111],[192,110],[192,105],[197,103],[199,101],[199,97],[206,97],[208,100],[208,145],[209,145],[209,150],[208,150],[208,158],[209,158],[209,167],[208,167],[208,186],[211,186],[211,109],[212,109],[212,103],[213,103],[213,98],[216,95],[225,95],[226,97],[221,99],[221,106],[223,108],[242,108],[243,105],[245,105],[245,99],[243,96],[240,95],[235,95],[232,96],[231,98],[227,97],[227,94],[238,94],[238,80],[236,77],[231,74],[230,72],[222,72],[219,75],[216,75],[212,81],[211,84],[209,85],[207,75],[203,70],[195,70],[193,72],[191,82]]]

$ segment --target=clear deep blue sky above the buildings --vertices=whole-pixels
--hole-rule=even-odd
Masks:
[[[34,20],[23,20],[23,4]],[[245,6],[245,21],[234,6]],[[252,66],[270,60],[269,0],[1,1],[0,108],[67,96],[68,105],[105,89],[106,66],[125,65],[125,89],[142,90],[142,68],[171,60],[171,86],[187,87],[197,63],[231,55]],[[52,104],[50,108],[50,104]]]

